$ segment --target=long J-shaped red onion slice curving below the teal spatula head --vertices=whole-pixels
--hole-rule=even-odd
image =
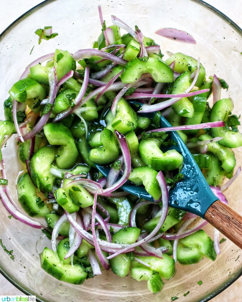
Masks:
[[[124,249],[120,249],[118,252],[116,252],[113,255],[110,255],[109,257],[107,257],[107,259],[111,259],[111,258],[113,258],[113,257],[115,257],[119,254],[125,253],[125,252],[129,251],[131,248],[135,248],[137,246],[141,246],[143,244],[146,244],[149,239],[152,239],[155,236],[155,234],[157,232],[159,232],[159,230],[162,227],[162,225],[165,221],[165,218],[168,214],[169,192],[168,192],[168,189],[167,189],[167,185],[166,185],[166,182],[165,182],[164,175],[162,174],[161,171],[157,174],[156,179],[158,180],[158,183],[160,185],[161,192],[162,192],[162,213],[161,213],[160,220],[158,221],[158,223],[155,226],[154,230],[148,236],[143,238],[142,240],[139,240],[136,243],[132,243]]]

